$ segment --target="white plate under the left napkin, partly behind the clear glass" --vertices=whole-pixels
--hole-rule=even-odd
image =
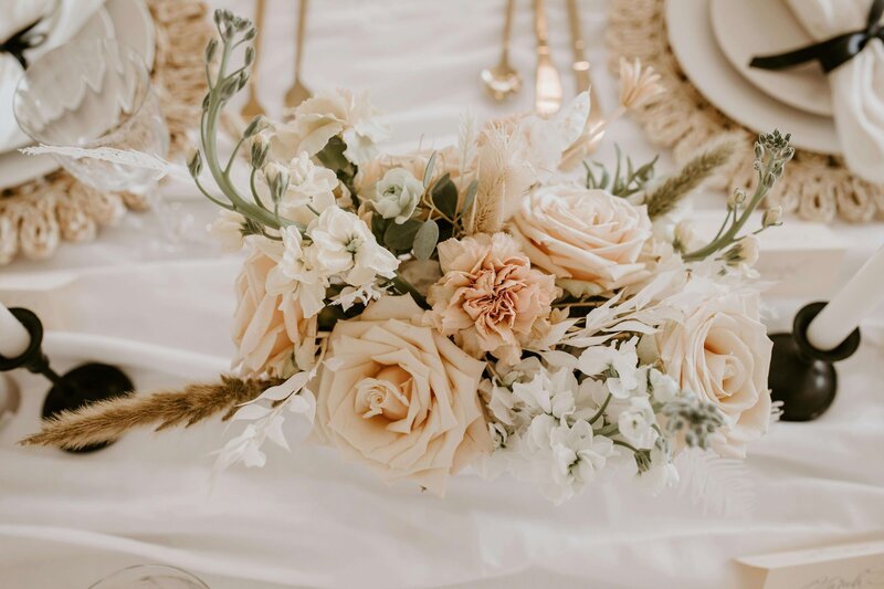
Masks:
[[[144,0],[107,0],[71,41],[87,39],[101,31],[108,39],[116,39],[138,51],[148,67],[154,65],[156,31]],[[28,143],[19,147],[25,145]],[[46,176],[59,167],[52,156],[25,156],[18,150],[0,154],[0,190]]]

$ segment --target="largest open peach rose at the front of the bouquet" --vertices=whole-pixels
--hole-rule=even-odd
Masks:
[[[492,450],[478,402],[484,364],[430,327],[410,296],[335,325],[319,375],[314,437],[443,495],[449,475]]]

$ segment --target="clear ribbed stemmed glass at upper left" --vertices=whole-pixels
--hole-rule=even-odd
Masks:
[[[13,105],[21,129],[46,146],[136,150],[160,158],[169,149],[169,132],[147,65],[138,52],[113,40],[74,41],[43,54],[19,82]],[[185,236],[187,220],[159,198],[155,170],[92,157],[52,156],[94,188],[144,194],[167,238],[178,242]]]

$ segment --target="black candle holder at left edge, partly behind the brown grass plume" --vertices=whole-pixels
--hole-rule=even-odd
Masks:
[[[52,388],[43,401],[43,419],[50,419],[62,411],[74,411],[95,401],[122,397],[133,391],[129,377],[119,368],[106,364],[88,362],[59,376],[51,367],[49,358],[43,354],[43,324],[40,318],[27,308],[11,308],[12,315],[21,322],[31,336],[31,344],[18,358],[0,355],[0,372],[25,368],[46,377]],[[92,444],[70,452],[94,452],[107,446],[107,443]]]

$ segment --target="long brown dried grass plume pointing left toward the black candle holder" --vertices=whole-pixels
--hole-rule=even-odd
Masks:
[[[238,406],[255,399],[278,381],[221,377],[221,382],[188,385],[183,390],[131,395],[65,411],[43,422],[43,429],[24,438],[22,445],[51,445],[78,450],[114,442],[135,428],[156,424],[155,431],[176,425],[188,428],[225,411],[233,417]]]

